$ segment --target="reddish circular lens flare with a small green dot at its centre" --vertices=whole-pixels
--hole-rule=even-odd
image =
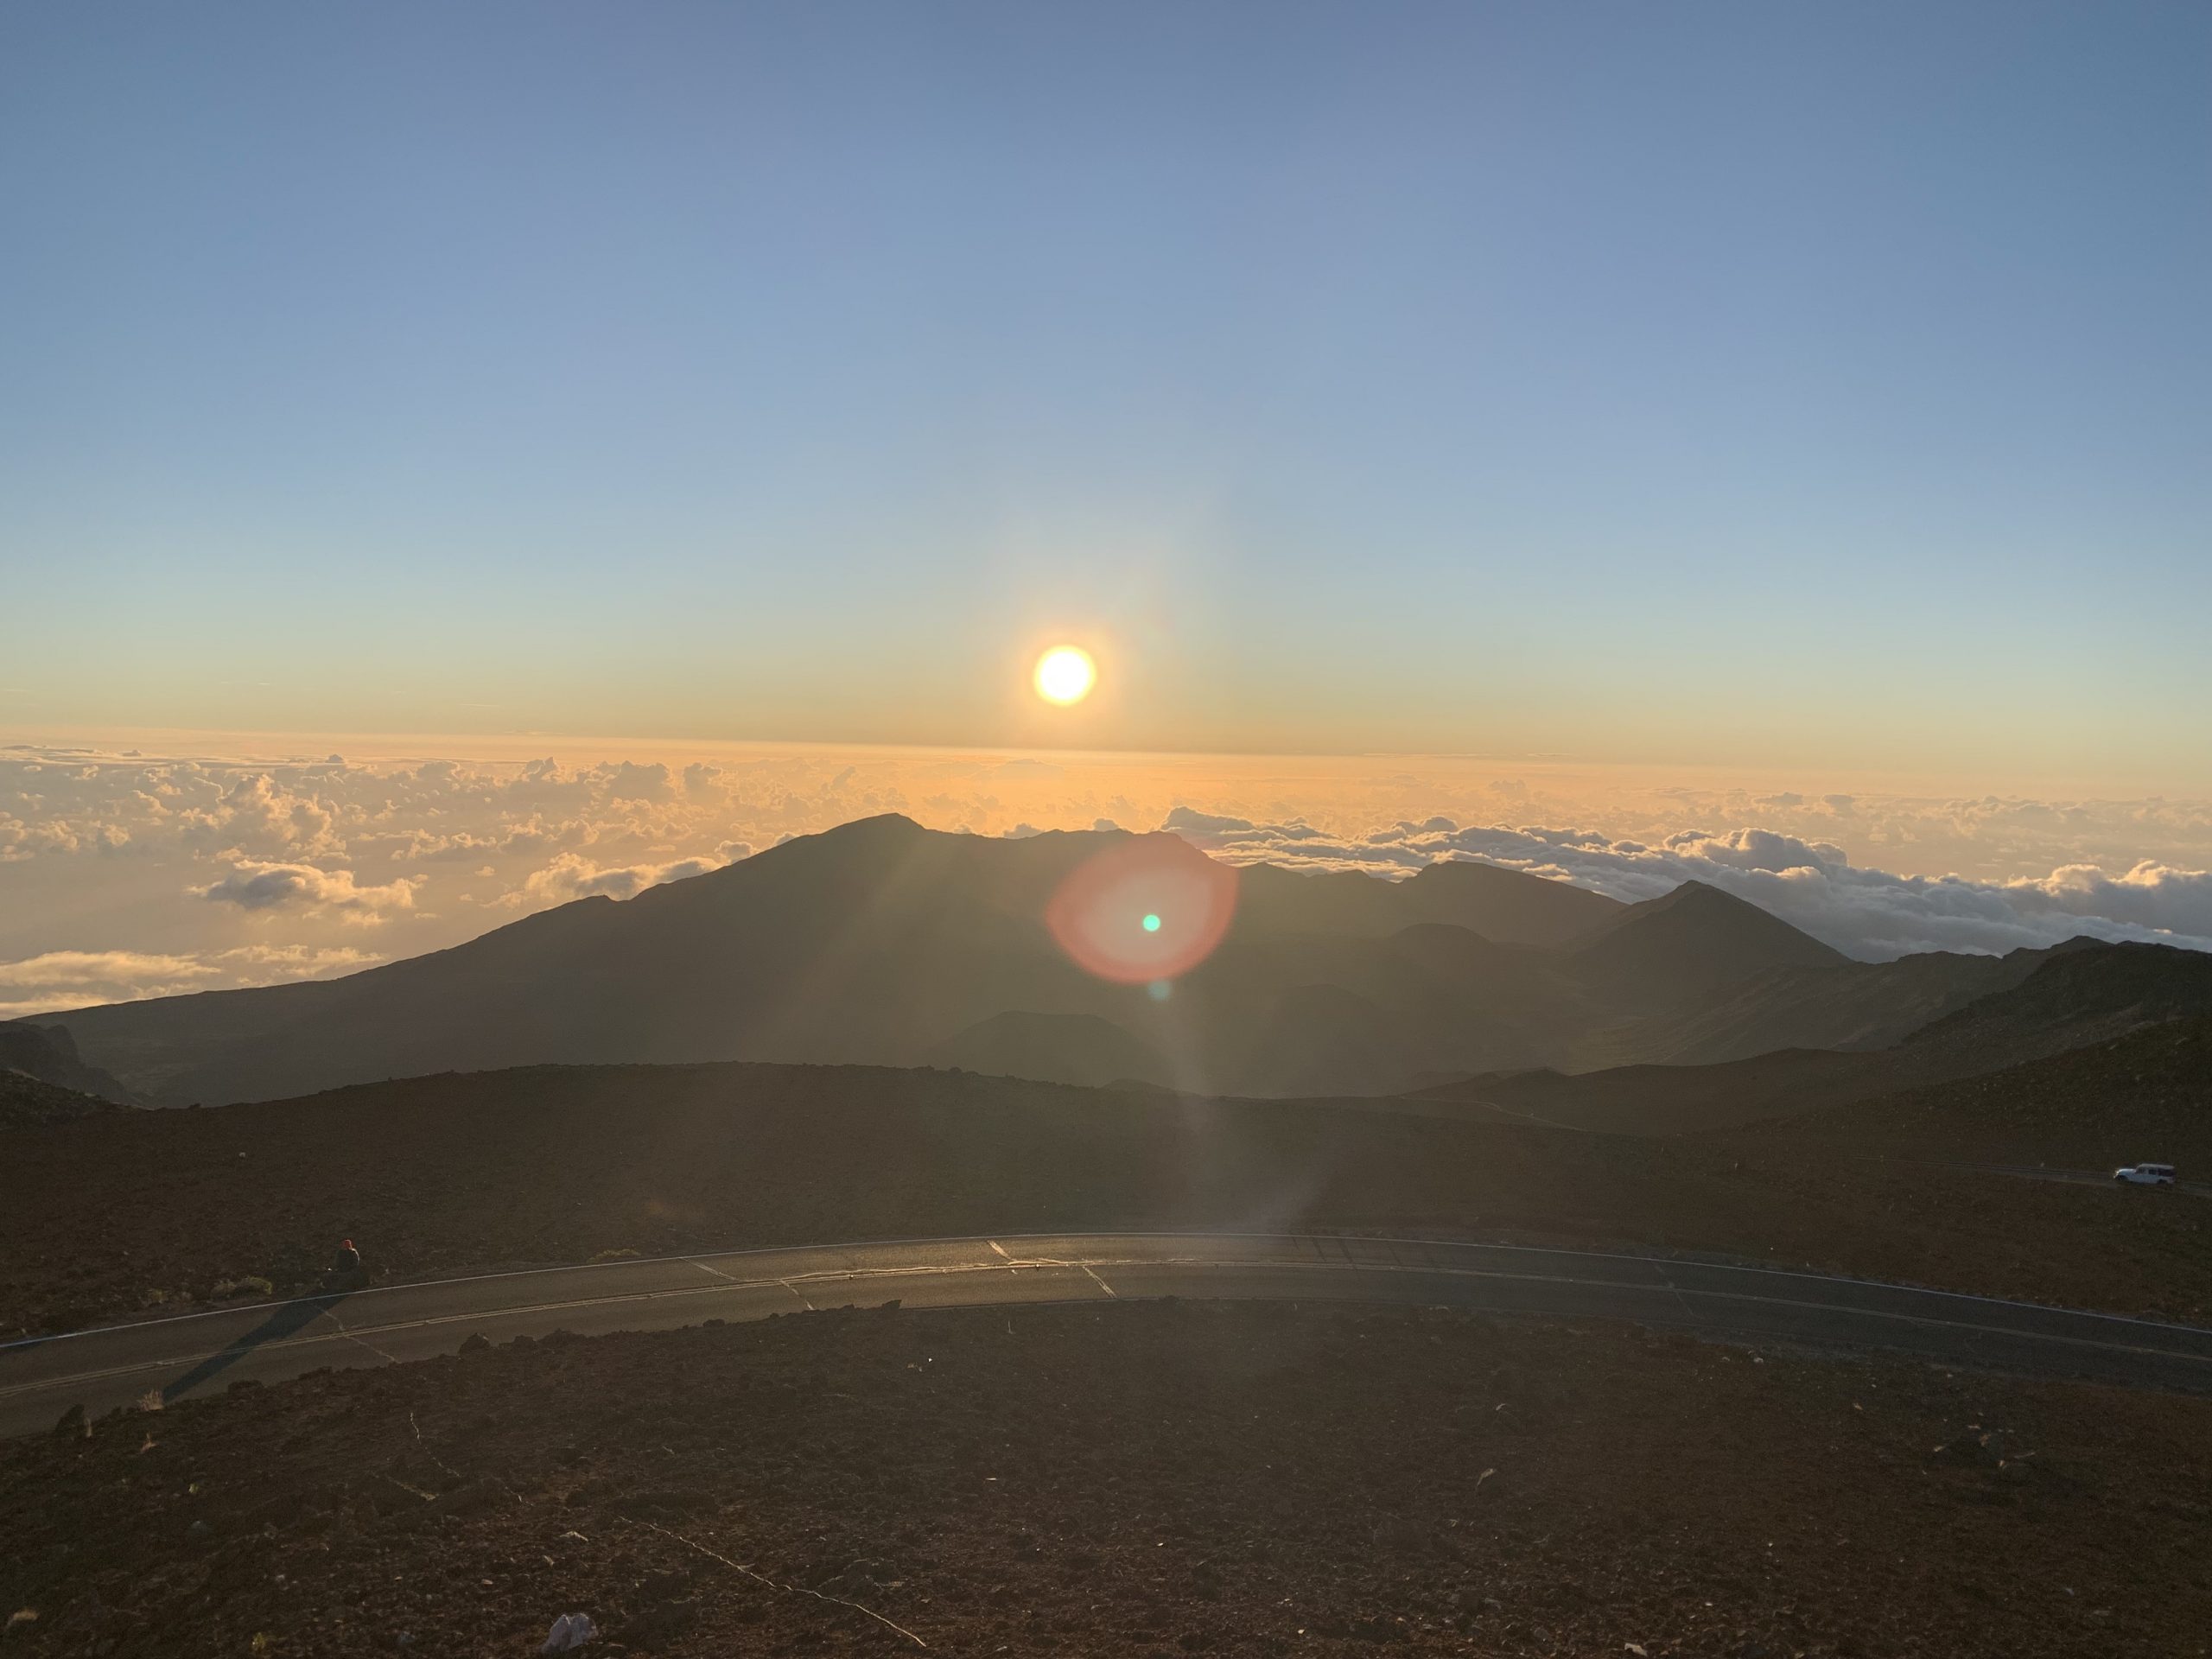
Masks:
[[[1139,836],[1068,872],[1044,922],[1086,973],[1150,984],[1212,956],[1234,914],[1234,867],[1177,836]]]

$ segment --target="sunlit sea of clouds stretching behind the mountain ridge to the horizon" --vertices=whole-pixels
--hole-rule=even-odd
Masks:
[[[1624,785],[1449,761],[761,750],[442,759],[0,750],[0,1018],[345,973],[874,812],[1161,827],[1232,863],[1699,878],[1851,956],[2212,949],[2212,803]],[[1571,825],[1571,827],[1559,827]],[[1918,874],[1898,874],[1918,872]]]

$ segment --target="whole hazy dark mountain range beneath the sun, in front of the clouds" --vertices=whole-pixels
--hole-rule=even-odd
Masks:
[[[2212,973],[2212,958],[2177,969],[2179,951],[2115,958],[2115,947],[1851,962],[1701,883],[1624,907],[1453,863],[1396,883],[1250,867],[1199,967],[1172,984],[1121,984],[1077,967],[1046,925],[1068,874],[1108,852],[1141,854],[1192,889],[1223,880],[1175,836],[1000,841],[883,816],[343,980],[35,1024],[66,1020],[88,1064],[181,1106],[438,1071],[712,1060],[942,1064],[1197,1095],[1380,1095],[1475,1077],[1498,1095],[1502,1073],[1891,1053],[1885,1044],[1918,1026],[1973,1018],[1893,1071],[1900,1086],[1962,1075],[1962,1057],[2013,1064],[2197,1006],[2190,973]],[[2046,982],[2055,967],[2077,978]],[[2024,1000],[1993,1002],[2004,993]],[[1812,1077],[1829,1062],[1787,1064]],[[1858,1071],[1829,1071],[1838,1088],[1858,1086]],[[1515,1088],[1540,1086],[1551,1088]],[[1668,1077],[1659,1093],[1694,1086]],[[1834,1097],[1827,1084],[1801,1088]]]

